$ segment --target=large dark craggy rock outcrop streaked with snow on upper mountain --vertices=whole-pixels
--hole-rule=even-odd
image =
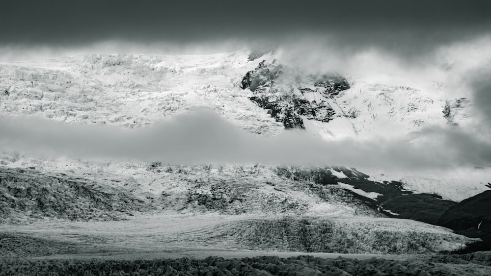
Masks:
[[[336,114],[327,98],[350,88],[341,75],[296,75],[292,69],[265,61],[249,71],[241,81],[242,89],[252,92],[250,100],[286,129],[305,128],[302,117],[327,123]],[[311,97],[306,97],[306,95]],[[317,97],[314,97],[316,95]]]

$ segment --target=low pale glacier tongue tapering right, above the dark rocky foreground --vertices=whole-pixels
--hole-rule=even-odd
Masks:
[[[119,221],[39,219],[2,224],[0,237],[1,257],[110,259],[289,257],[307,252],[324,258],[401,259],[406,252],[451,250],[472,241],[410,220],[175,212]]]

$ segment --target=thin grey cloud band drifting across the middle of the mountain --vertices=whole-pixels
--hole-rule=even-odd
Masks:
[[[428,170],[486,166],[491,146],[457,129],[423,130],[424,140],[327,142],[301,131],[274,137],[244,132],[202,110],[147,129],[67,125],[41,119],[0,120],[0,145],[45,156],[161,160],[168,163],[274,163],[349,165]]]

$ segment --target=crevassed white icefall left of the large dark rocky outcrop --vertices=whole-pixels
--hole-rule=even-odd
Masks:
[[[0,112],[137,128],[204,105],[252,132],[278,133],[281,125],[237,86],[257,66],[247,55],[90,54],[2,64]]]

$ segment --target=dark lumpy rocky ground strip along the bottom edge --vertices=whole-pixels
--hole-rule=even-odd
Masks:
[[[489,252],[409,260],[302,255],[225,259],[2,260],[0,275],[489,275]]]

